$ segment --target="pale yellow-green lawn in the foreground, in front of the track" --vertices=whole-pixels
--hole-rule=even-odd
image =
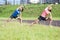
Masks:
[[[60,27],[0,21],[0,40],[60,40]]]

